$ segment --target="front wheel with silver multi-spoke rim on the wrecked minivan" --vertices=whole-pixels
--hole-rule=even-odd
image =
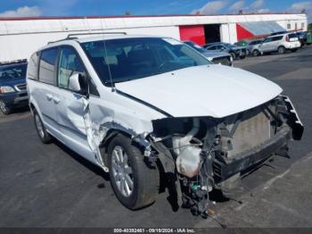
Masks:
[[[151,205],[158,194],[159,171],[144,159],[124,135],[117,135],[108,146],[111,187],[119,202],[131,210]]]

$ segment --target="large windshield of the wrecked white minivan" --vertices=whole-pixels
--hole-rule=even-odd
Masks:
[[[172,38],[110,39],[81,46],[104,84],[210,64],[201,54]]]

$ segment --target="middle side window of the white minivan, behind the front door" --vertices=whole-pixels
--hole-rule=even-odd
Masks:
[[[39,68],[39,80],[46,84],[55,84],[54,71],[55,60],[58,54],[58,49],[47,49],[41,52],[40,68]]]

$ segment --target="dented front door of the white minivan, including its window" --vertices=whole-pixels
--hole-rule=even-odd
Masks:
[[[80,73],[86,77],[86,70],[76,50],[71,46],[62,46],[58,61],[57,87],[54,98],[56,113],[62,140],[70,148],[87,160],[94,162],[94,154],[87,143],[85,106],[86,96],[78,94],[69,88],[70,76]]]

